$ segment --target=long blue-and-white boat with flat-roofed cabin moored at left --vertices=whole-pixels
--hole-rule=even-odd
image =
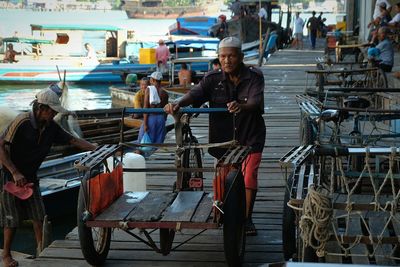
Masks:
[[[133,47],[144,44],[132,41],[132,33],[107,25],[31,24],[32,36],[4,38],[19,49],[18,62],[0,63],[0,84],[49,83],[61,80],[76,83],[123,82],[126,72],[151,72],[155,64],[132,63],[128,55]],[[93,32],[104,36],[105,51],[84,55],[83,36]]]

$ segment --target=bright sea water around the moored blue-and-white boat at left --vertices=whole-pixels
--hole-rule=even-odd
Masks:
[[[129,19],[124,11],[33,11],[23,9],[0,9],[0,37],[29,36],[31,24],[96,24],[113,25],[135,31],[137,38],[152,35],[165,35],[172,19],[146,20]],[[102,33],[85,34],[85,42],[95,50],[105,49]],[[83,46],[83,45],[82,45]],[[18,51],[18,46],[15,46]],[[18,57],[18,56],[17,56]],[[67,74],[68,75],[68,74]],[[112,107],[108,87],[111,84],[70,85],[69,98],[71,110],[98,109]],[[17,110],[27,110],[35,94],[46,85],[0,85],[0,106]]]

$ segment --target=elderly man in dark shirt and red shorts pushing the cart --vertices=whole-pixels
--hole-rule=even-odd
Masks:
[[[246,186],[246,233],[256,235],[252,212],[257,193],[257,172],[265,143],[264,76],[260,70],[243,64],[241,42],[227,37],[219,44],[221,69],[209,72],[200,83],[183,96],[177,104],[165,106],[167,113],[193,104],[200,106],[209,101],[211,108],[227,107],[229,113],[211,113],[209,121],[210,143],[236,139],[250,146],[251,153],[242,166]],[[222,157],[225,149],[209,149],[212,156]]]

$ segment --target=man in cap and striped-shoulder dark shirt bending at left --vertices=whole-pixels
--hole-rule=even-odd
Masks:
[[[45,215],[40,195],[37,170],[52,144],[71,144],[82,150],[94,150],[95,145],[75,138],[64,131],[53,118],[68,112],[61,106],[52,89],[44,89],[32,102],[32,111],[17,116],[0,135],[0,224],[4,231],[3,266],[17,266],[10,253],[16,228],[22,220],[33,221],[38,248],[42,242],[42,222]],[[33,194],[21,200],[3,190],[6,182],[23,187],[33,183]]]

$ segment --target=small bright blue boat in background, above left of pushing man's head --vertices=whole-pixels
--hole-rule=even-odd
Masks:
[[[216,17],[208,16],[179,17],[174,24],[169,26],[169,33],[171,35],[210,36],[208,30],[217,21]]]

